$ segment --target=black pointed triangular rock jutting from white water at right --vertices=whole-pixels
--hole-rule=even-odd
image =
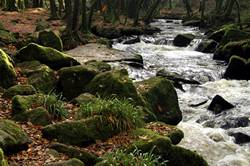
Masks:
[[[219,114],[231,108],[234,108],[234,106],[219,95],[216,95],[208,106],[208,110],[212,111],[214,114]]]

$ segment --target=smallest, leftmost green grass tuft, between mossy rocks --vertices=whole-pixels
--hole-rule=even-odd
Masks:
[[[45,96],[42,103],[53,119],[62,119],[68,116],[68,110],[65,109],[62,95],[50,93]]]

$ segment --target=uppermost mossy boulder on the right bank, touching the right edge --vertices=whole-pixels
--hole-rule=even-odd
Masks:
[[[250,37],[249,33],[241,31],[237,25],[230,24],[213,32],[208,38],[220,43],[220,46],[232,41],[239,41]]]

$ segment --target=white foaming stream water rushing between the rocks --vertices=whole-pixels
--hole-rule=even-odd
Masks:
[[[115,43],[114,48],[142,55],[144,68],[127,67],[135,81],[156,75],[159,69],[178,73],[201,82],[177,90],[183,120],[178,125],[185,137],[180,145],[201,154],[211,166],[249,166],[250,143],[238,145],[230,132],[250,135],[250,82],[221,79],[225,65],[212,60],[212,54],[195,51],[204,37],[194,27],[183,27],[180,20],[157,20],[152,23],[162,30],[153,36],[140,36],[141,42],[131,45]],[[195,40],[186,48],[175,47],[173,38],[180,33],[192,33]],[[236,107],[214,115],[207,110],[211,99],[221,95]],[[192,104],[207,101],[192,107]],[[237,124],[237,125],[236,125]]]

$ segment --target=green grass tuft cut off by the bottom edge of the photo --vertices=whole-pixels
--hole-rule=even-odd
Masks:
[[[159,156],[149,153],[142,153],[135,150],[132,153],[125,153],[122,150],[107,153],[102,157],[102,161],[96,166],[166,166],[167,161],[161,161]]]

